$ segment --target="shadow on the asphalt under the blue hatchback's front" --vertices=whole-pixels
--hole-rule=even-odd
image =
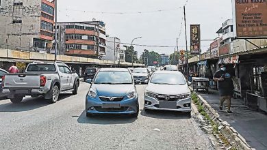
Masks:
[[[77,121],[78,123],[112,125],[133,123],[136,121],[136,118],[129,115],[94,115],[92,117],[86,117],[86,112],[83,111]]]

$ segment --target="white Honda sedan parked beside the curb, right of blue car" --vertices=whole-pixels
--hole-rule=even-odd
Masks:
[[[183,74],[155,72],[145,89],[144,110],[173,110],[190,114],[191,93]]]

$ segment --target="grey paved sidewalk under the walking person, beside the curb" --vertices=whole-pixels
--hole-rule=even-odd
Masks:
[[[227,121],[232,127],[239,132],[246,142],[257,150],[267,149],[267,115],[261,112],[249,110],[243,105],[243,100],[232,99],[231,111],[228,114],[219,110],[219,93],[210,90],[209,94],[198,92],[212,108],[217,110],[220,119]],[[226,103],[225,103],[226,104]]]

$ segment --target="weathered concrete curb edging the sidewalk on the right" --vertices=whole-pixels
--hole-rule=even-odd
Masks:
[[[193,89],[190,87],[190,90],[193,92]],[[231,126],[227,121],[220,119],[220,115],[212,106],[210,106],[207,101],[201,96],[197,95],[203,106],[205,112],[209,117],[219,125],[219,131],[225,138],[227,138],[232,147],[236,149],[252,150],[253,148],[249,146],[246,140]]]

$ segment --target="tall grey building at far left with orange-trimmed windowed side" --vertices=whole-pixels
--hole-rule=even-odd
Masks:
[[[1,0],[0,47],[45,53],[53,40],[52,0]]]

